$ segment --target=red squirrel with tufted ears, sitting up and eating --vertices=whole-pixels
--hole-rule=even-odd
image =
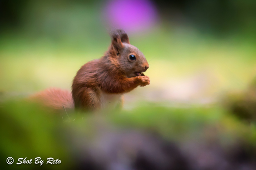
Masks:
[[[150,84],[145,72],[149,64],[144,54],[132,46],[122,29],[111,32],[109,50],[100,59],[84,64],[72,84],[72,93],[51,88],[33,98],[51,108],[73,108],[98,111],[122,106],[122,95],[137,86]]]

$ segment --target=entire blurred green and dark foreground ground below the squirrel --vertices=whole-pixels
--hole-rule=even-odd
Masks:
[[[55,114],[24,102],[0,107],[4,169],[255,169],[256,125],[221,107]],[[6,163],[7,157],[14,163]],[[18,158],[33,159],[16,164]],[[42,166],[35,158],[44,160]],[[46,164],[47,158],[61,160]]]

